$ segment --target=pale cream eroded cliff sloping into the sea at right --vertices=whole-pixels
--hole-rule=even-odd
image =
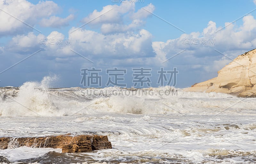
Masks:
[[[256,49],[239,55],[218,71],[218,77],[194,84],[184,91],[221,92],[238,97],[256,97]]]

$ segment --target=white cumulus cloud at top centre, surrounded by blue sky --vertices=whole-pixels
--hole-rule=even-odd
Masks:
[[[153,4],[139,9],[135,12],[135,3],[121,3],[118,5],[107,5],[101,11],[94,10],[91,14],[81,20],[82,23],[90,22],[90,26],[101,26],[103,34],[126,33],[127,31],[138,31],[145,24],[144,19],[151,16],[150,12],[155,10]],[[97,18],[97,19],[95,19]]]

